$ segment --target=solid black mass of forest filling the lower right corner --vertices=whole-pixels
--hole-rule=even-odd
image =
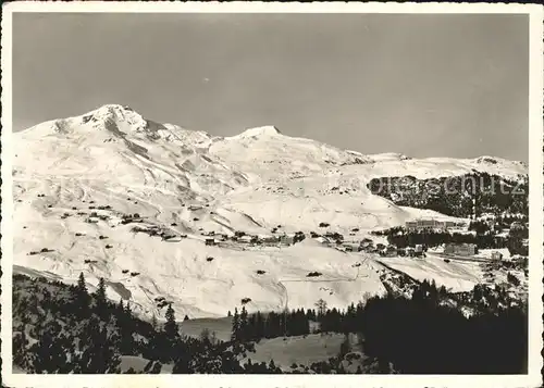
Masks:
[[[422,286],[412,299],[372,298],[364,306],[364,352],[404,374],[524,374],[527,312],[521,308],[466,317]]]

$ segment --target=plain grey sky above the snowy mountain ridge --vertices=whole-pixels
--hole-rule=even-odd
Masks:
[[[106,103],[230,136],[528,161],[529,20],[489,14],[15,13],[13,126]]]

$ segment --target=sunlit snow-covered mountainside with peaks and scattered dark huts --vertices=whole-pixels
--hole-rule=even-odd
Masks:
[[[357,228],[349,239],[359,240],[415,217],[452,218],[372,195],[367,184],[373,177],[528,174],[522,163],[490,157],[364,155],[273,126],[217,137],[114,104],[13,136],[14,271],[66,283],[84,272],[91,290],[104,277],[111,299],[129,300],[135,311],[159,318],[161,297],[177,316],[218,317],[244,298],[249,311],[270,311],[287,303],[314,308],[320,298],[345,308],[385,292],[383,266],[363,254],[309,237],[289,247],[206,246],[206,231],[327,230],[347,238]],[[128,215],[137,221],[124,223]],[[322,275],[307,278],[309,272]],[[461,272],[455,277],[445,283],[474,281]]]

